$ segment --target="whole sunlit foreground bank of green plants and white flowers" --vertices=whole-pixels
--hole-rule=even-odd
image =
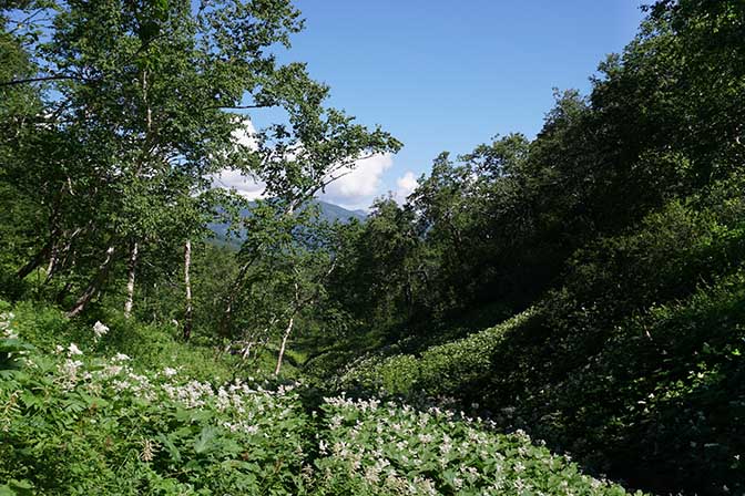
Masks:
[[[524,433],[229,380],[232,358],[215,361],[163,329],[150,329],[157,351],[106,356],[132,327],[83,329],[2,304],[0,494],[626,494]],[[67,343],[72,335],[84,344]]]

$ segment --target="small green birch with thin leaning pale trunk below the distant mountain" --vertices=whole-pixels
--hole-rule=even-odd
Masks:
[[[314,206],[286,215],[285,205],[259,200],[244,220],[247,238],[238,260],[241,285],[231,283],[229,314],[223,335],[244,358],[277,343],[275,375],[287,344],[299,328],[323,319],[327,281],[337,267],[341,225],[318,218]],[[253,258],[246,262],[251,255]]]

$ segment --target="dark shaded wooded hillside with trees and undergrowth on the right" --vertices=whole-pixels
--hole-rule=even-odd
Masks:
[[[368,331],[313,370],[478,403],[633,486],[742,492],[744,29],[742,2],[657,2],[535,140],[379,203],[337,281]]]

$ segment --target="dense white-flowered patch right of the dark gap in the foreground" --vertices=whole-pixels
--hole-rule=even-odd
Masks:
[[[327,397],[317,462],[326,479],[357,480],[372,494],[623,495],[537,446],[522,431],[441,409]],[[351,484],[351,483],[346,483]]]

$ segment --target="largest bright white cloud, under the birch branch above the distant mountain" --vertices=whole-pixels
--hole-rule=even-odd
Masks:
[[[389,153],[357,161],[355,167],[339,170],[348,174],[329,184],[320,198],[345,208],[367,209],[372,199],[380,194],[382,174],[392,165],[394,157]]]

